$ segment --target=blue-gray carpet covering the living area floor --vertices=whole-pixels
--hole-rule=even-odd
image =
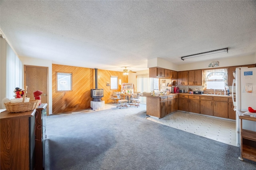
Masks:
[[[240,148],[146,119],[146,106],[47,117],[46,170],[252,170]]]

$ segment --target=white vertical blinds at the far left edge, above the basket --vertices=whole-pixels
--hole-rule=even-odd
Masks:
[[[22,87],[22,63],[6,43],[6,98],[14,98],[16,87]]]

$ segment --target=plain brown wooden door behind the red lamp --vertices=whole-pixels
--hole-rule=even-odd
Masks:
[[[48,67],[24,65],[24,86],[28,86],[27,96],[34,100],[33,92],[40,90],[41,103],[48,103]],[[49,114],[47,107],[47,115]]]

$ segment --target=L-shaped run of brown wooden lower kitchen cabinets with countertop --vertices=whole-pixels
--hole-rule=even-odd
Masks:
[[[147,115],[162,118],[180,110],[228,119],[236,119],[231,96],[211,94],[169,94],[146,96]]]

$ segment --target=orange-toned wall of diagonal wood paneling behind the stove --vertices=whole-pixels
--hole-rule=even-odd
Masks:
[[[57,72],[72,73],[72,91],[57,92]],[[52,64],[52,114],[89,109],[92,101],[90,90],[95,88],[94,72],[92,68]],[[110,96],[113,91],[121,91],[120,84],[118,84],[118,90],[110,90],[110,86],[106,86],[106,82],[110,82],[110,76],[118,76],[118,81],[121,79],[122,83],[127,80],[122,72],[98,69],[98,88],[104,89],[102,100],[105,103],[112,102]]]

